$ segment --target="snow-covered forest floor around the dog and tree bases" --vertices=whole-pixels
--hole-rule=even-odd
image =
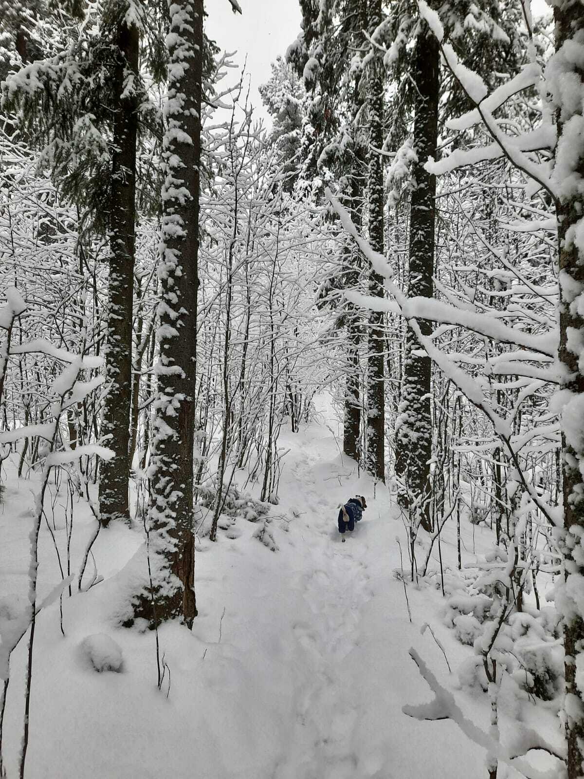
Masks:
[[[273,552],[238,519],[196,556],[199,617],[192,633],[160,630],[170,670],[157,689],[153,633],[118,629],[114,614],[139,534],[102,531],[96,563],[105,580],[41,613],[35,643],[28,779],[423,779],[480,777],[484,752],[451,721],[419,722],[405,703],[431,699],[408,656],[415,646],[452,688],[444,658],[420,626],[431,622],[453,667],[468,654],[436,616],[439,595],[409,588],[410,624],[396,535],[403,527],[385,488],[339,453],[322,424],[286,433],[290,448],[273,508]],[[21,482],[22,491],[23,483]],[[368,509],[341,544],[337,506],[363,494]],[[7,493],[0,532],[0,582],[9,593],[26,582],[26,523]],[[83,524],[86,523],[86,526]],[[83,530],[86,527],[86,530]],[[79,527],[79,548],[89,517]],[[75,532],[75,531],[74,531]],[[477,531],[478,532],[478,531]],[[231,538],[229,538],[231,536]],[[445,536],[445,555],[452,543]],[[58,580],[41,534],[41,581]],[[449,548],[450,547],[450,548]],[[9,560],[12,573],[6,573]],[[16,567],[15,567],[16,566]],[[119,570],[119,573],[116,573]],[[51,573],[52,572],[52,573]],[[54,583],[54,582],[53,582]],[[8,585],[7,585],[8,587]],[[23,593],[21,592],[20,595]],[[121,650],[121,672],[97,673],[92,647]],[[95,637],[98,636],[99,640]],[[16,772],[22,733],[24,645],[12,658],[5,716],[8,776]],[[170,691],[167,695],[170,681]],[[479,722],[487,727],[487,707]],[[509,774],[511,776],[511,774]]]

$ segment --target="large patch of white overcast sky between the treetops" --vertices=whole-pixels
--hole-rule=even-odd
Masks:
[[[298,0],[239,0],[243,13],[234,14],[228,0],[208,0],[205,30],[224,51],[236,51],[234,62],[243,65],[247,55],[247,71],[252,88],[250,101],[258,115],[267,119],[258,86],[270,76],[270,63],[285,55],[288,46],[300,32]],[[232,72],[231,81],[237,76]]]

